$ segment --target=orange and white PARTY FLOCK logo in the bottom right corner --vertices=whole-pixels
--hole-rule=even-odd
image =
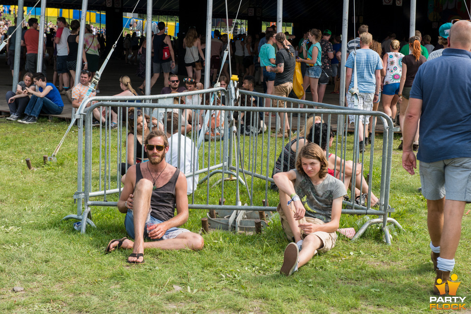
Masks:
[[[440,278],[437,279],[438,285],[435,287],[439,290],[440,296],[430,297],[430,310],[466,310],[466,297],[456,296],[456,290],[461,284],[461,282],[455,282],[458,280],[458,275],[452,274],[450,279],[453,281],[447,280],[446,283]],[[448,286],[448,293],[446,293],[446,286]]]

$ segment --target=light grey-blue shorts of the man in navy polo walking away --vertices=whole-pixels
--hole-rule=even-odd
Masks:
[[[427,200],[446,199],[471,202],[471,158],[420,161],[422,195]]]

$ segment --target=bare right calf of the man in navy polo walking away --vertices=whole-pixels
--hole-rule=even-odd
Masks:
[[[466,202],[445,200],[443,209],[443,232],[440,241],[440,257],[445,260],[455,258],[456,249],[460,243],[461,220]],[[432,242],[433,243],[433,242]]]

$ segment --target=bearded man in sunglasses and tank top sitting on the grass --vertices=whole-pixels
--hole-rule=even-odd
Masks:
[[[127,262],[141,264],[145,248],[202,249],[201,235],[178,228],[188,220],[187,181],[178,168],[165,160],[168,152],[166,134],[160,130],[150,132],[144,141],[144,150],[149,161],[128,169],[118,201],[119,211],[126,214],[126,231],[135,241],[126,237],[113,239],[105,252],[132,249]],[[152,241],[144,242],[144,237]]]

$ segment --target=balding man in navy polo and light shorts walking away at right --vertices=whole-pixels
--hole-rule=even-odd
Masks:
[[[461,237],[461,220],[471,202],[471,23],[451,26],[448,48],[417,71],[403,129],[402,166],[415,173],[412,149],[419,127],[420,183],[427,199],[427,227],[436,285],[450,280]],[[439,114],[437,114],[439,113]]]

